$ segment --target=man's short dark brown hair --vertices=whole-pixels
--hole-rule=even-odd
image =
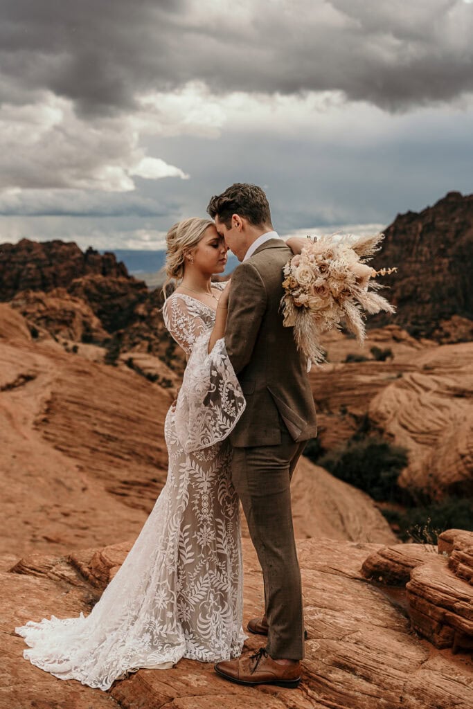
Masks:
[[[230,228],[232,214],[245,217],[250,224],[260,226],[271,224],[271,211],[267,196],[261,187],[245,182],[235,182],[222,194],[211,198],[207,211],[212,219],[218,216],[226,227]]]

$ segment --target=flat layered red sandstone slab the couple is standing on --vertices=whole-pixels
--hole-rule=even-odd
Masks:
[[[305,540],[298,544],[301,562],[305,623],[308,630],[302,681],[288,690],[261,685],[257,688],[229,683],[211,664],[182,660],[169,670],[140,670],[116,682],[108,693],[60,681],[21,659],[23,639],[12,634],[15,625],[40,620],[52,613],[59,618],[88,612],[97,592],[121,562],[126,547],[90,550],[84,555],[87,572],[82,585],[60,577],[0,574],[1,627],[4,636],[4,669],[9,682],[0,688],[5,706],[23,709],[103,706],[121,709],[175,707],[180,709],[469,709],[473,702],[471,658],[442,652],[418,640],[408,618],[378,588],[360,575],[360,566],[376,545]],[[245,622],[262,608],[262,578],[255,552],[244,540]],[[23,569],[40,565],[25,559]],[[69,563],[50,559],[43,566]],[[108,571],[105,570],[108,568]],[[71,565],[71,575],[77,573]],[[101,579],[100,588],[89,579]],[[264,644],[251,635],[244,652]],[[105,700],[108,704],[105,704]]]

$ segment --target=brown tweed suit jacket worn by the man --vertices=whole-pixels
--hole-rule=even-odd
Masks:
[[[294,441],[317,433],[306,358],[279,311],[291,255],[284,241],[270,239],[233,272],[225,342],[246,400],[230,434],[235,447],[279,444],[280,418]]]

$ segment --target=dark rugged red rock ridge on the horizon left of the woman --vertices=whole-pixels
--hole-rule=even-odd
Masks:
[[[138,351],[184,371],[184,354],[165,328],[161,292],[128,276],[113,254],[83,253],[60,241],[4,244],[0,284],[0,300],[11,301],[35,337],[49,333],[74,351],[79,343]]]

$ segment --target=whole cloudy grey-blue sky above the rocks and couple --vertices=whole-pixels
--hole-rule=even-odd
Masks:
[[[465,0],[0,9],[0,242],[157,248],[233,182],[283,234],[473,192]]]

